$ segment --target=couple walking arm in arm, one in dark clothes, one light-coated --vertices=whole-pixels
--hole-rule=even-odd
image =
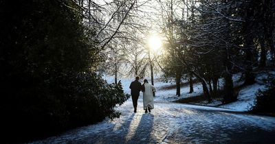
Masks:
[[[133,112],[137,112],[137,99],[140,96],[140,91],[143,93],[143,109],[145,112],[151,112],[154,108],[154,97],[153,92],[155,92],[155,87],[148,84],[148,80],[144,79],[144,83],[138,82],[140,77],[135,77],[135,81],[131,82],[130,89],[133,100]]]

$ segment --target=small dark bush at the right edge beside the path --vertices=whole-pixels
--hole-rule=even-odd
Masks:
[[[270,113],[275,115],[275,80],[272,81],[267,91],[259,90],[252,112]]]

